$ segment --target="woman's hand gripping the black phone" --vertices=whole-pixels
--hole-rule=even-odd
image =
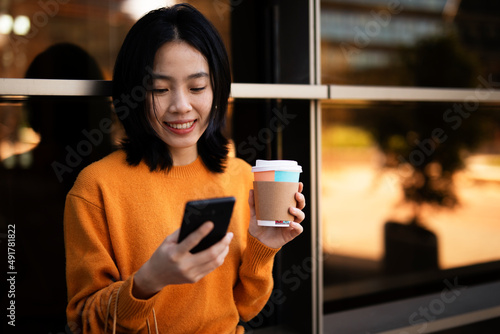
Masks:
[[[229,252],[231,232],[218,243],[196,254],[195,247],[213,229],[212,222],[206,222],[182,242],[179,230],[167,236],[149,260],[135,273],[132,294],[138,299],[148,299],[170,284],[195,283],[218,268]]]

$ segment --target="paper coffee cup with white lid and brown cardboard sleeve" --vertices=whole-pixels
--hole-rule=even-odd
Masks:
[[[288,208],[297,205],[295,193],[302,167],[293,160],[257,160],[252,172],[257,224],[289,226],[294,216]]]

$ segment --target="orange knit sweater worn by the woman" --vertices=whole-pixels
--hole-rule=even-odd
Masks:
[[[170,172],[129,166],[117,151],[87,167],[66,200],[64,217],[68,325],[74,333],[242,333],[264,307],[273,287],[278,251],[248,234],[251,168],[229,158],[226,171],[211,173],[200,158]],[[224,264],[194,284],[169,285],[148,300],[132,295],[134,273],[163,239],[180,227],[188,200],[234,196]],[[116,302],[116,296],[118,300]],[[116,302],[116,303],[115,303]],[[109,310],[108,310],[109,307]]]

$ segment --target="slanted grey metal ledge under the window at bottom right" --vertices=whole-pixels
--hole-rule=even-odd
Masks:
[[[345,333],[347,329],[353,333],[434,333],[500,315],[500,282],[474,286],[448,283],[436,293],[325,315],[327,328],[323,333]],[[438,307],[432,316],[422,316],[422,310]]]

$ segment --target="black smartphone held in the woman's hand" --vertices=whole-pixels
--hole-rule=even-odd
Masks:
[[[209,198],[187,202],[178,242],[184,240],[208,220],[214,223],[213,230],[190,252],[193,254],[201,252],[224,238],[233,214],[235,202],[234,197]]]

